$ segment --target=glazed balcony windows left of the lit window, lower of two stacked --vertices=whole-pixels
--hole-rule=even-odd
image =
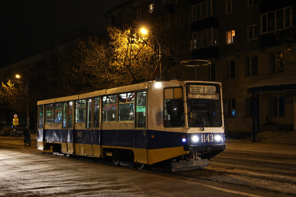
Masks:
[[[218,29],[210,28],[192,33],[192,50],[216,45],[218,45]]]

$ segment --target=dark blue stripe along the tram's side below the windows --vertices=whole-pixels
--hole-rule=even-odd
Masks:
[[[75,144],[120,146],[139,149],[161,149],[185,146],[186,133],[148,130],[67,130],[44,129],[44,140]],[[146,136],[147,135],[147,136]],[[154,136],[152,138],[152,136]]]

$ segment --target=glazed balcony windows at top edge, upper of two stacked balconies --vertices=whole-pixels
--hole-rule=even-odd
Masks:
[[[207,0],[191,6],[192,21],[218,15],[217,0]]]

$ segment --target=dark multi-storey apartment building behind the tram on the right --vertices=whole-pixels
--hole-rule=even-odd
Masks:
[[[178,60],[208,60],[199,79],[222,82],[229,137],[296,130],[295,1],[130,0],[106,14],[120,27],[181,29]]]

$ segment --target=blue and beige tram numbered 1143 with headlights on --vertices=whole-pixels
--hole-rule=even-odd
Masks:
[[[143,82],[38,101],[38,149],[142,168],[206,167],[225,150],[221,83]]]

